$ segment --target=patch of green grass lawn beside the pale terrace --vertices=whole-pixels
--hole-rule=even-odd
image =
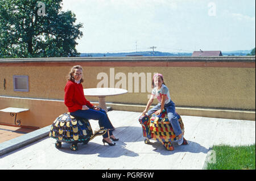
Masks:
[[[205,168],[207,170],[255,169],[255,144],[249,146],[213,146],[210,157],[210,162]]]

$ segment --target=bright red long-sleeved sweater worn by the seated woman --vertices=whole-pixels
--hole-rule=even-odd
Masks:
[[[85,99],[84,89],[82,88],[81,83],[77,84],[75,82],[68,81],[64,91],[64,103],[68,107],[69,112],[81,110],[83,105],[86,105],[89,108],[93,107],[93,104]]]

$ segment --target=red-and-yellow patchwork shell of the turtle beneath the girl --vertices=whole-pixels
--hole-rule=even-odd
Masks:
[[[181,131],[184,134],[184,124],[179,114],[176,113],[177,119],[180,124]],[[174,133],[174,129],[168,119],[167,113],[163,112],[162,115],[156,115],[153,113],[150,116],[149,121],[150,137],[157,141],[169,142],[176,141],[177,137]]]

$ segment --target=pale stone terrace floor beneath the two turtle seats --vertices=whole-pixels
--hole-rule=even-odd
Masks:
[[[185,138],[189,145],[175,150],[164,149],[160,142],[144,144],[142,127],[138,122],[141,112],[109,111],[115,137],[115,146],[103,145],[102,136],[88,145],[78,144],[79,150],[69,149],[70,144],[55,148],[55,140],[45,137],[27,146],[0,156],[0,168],[5,169],[203,169],[212,145],[255,144],[255,121],[182,116]],[[57,116],[56,116],[57,117]],[[98,121],[90,120],[93,130]]]

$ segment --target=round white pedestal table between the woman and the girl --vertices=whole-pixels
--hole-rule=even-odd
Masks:
[[[99,107],[108,112],[106,107],[105,98],[106,96],[126,94],[128,91],[125,89],[118,88],[90,88],[84,89],[84,95],[86,96],[97,96]]]

